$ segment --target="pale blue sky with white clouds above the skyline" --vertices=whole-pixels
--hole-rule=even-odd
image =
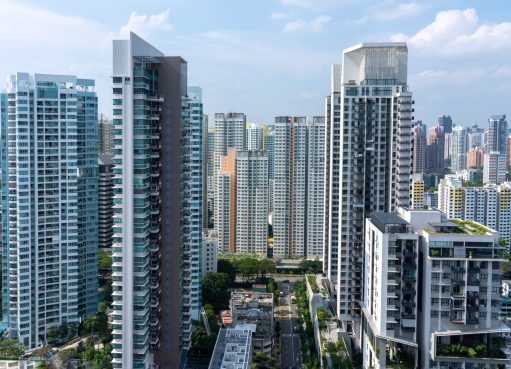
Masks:
[[[109,116],[111,40],[129,30],[188,61],[207,114],[323,115],[342,50],[389,40],[408,42],[416,119],[484,126],[511,113],[506,0],[0,0],[0,75],[94,78]]]

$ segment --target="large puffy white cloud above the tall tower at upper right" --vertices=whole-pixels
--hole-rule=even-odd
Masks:
[[[439,12],[415,35],[399,33],[391,40],[406,41],[417,50],[446,56],[502,51],[511,49],[511,23],[481,24],[475,9],[447,10]]]

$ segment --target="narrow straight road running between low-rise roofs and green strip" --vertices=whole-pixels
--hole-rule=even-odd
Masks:
[[[280,278],[279,278],[280,279]],[[280,367],[282,369],[300,369],[302,358],[300,352],[300,335],[296,322],[296,307],[291,304],[293,294],[292,283],[277,281],[279,291],[283,296],[279,298],[280,320]],[[296,329],[296,332],[295,332]]]

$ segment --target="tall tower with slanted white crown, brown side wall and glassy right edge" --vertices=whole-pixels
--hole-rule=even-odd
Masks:
[[[133,33],[113,42],[114,368],[182,367],[198,318],[203,121],[186,76]]]

